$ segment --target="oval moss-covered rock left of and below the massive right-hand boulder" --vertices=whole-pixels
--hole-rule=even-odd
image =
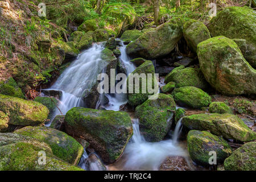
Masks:
[[[176,85],[176,84],[175,84]],[[174,100],[180,106],[201,108],[209,106],[212,98],[203,90],[194,86],[184,86],[174,89],[172,92]]]

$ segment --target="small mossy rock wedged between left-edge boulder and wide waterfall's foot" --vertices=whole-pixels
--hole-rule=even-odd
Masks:
[[[53,114],[55,113],[56,106],[59,104],[59,101],[56,100],[54,97],[36,97],[34,99],[36,102],[40,102],[41,104],[45,105],[49,110],[48,119],[51,119],[53,117]]]

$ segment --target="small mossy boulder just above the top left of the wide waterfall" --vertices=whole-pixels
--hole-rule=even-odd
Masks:
[[[76,48],[79,49],[80,51],[83,49],[88,49],[90,46],[92,46],[92,43],[96,41],[96,37],[94,35],[93,31],[86,32],[81,37],[80,42],[76,44]]]

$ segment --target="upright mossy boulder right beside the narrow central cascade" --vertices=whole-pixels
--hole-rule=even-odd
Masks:
[[[136,73],[137,75],[135,75]],[[129,75],[127,78],[128,103],[132,106],[137,106],[146,101],[148,96],[154,94],[154,92],[148,92],[148,82],[152,81],[152,88],[154,88],[154,86],[158,88],[158,82],[156,81],[155,68],[152,61],[145,61],[142,65],[137,67],[132,74],[133,75]],[[148,80],[148,74],[151,74],[151,80]],[[139,83],[138,87],[136,86],[136,82]]]

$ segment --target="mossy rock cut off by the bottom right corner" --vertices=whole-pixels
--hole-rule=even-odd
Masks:
[[[224,168],[228,171],[255,171],[256,170],[256,142],[243,144],[224,161]]]

